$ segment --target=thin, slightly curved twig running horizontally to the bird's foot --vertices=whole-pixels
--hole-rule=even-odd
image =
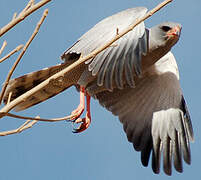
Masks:
[[[53,119],[42,119],[42,118],[33,118],[33,117],[26,117],[26,116],[19,116],[12,113],[7,113],[6,116],[17,118],[17,119],[30,119],[30,120],[36,120],[36,121],[46,121],[46,122],[56,122],[56,121],[65,121],[65,120],[71,120],[75,117],[75,115],[69,115],[64,116],[61,118],[53,118]]]

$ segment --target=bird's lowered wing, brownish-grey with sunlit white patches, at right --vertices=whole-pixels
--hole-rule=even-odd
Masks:
[[[152,151],[152,168],[163,168],[171,174],[172,159],[175,169],[182,171],[182,156],[190,164],[189,141],[193,130],[185,100],[180,89],[177,65],[169,52],[140,78],[135,88],[102,92],[95,97],[100,104],[119,116],[127,138],[141,161],[148,165]]]

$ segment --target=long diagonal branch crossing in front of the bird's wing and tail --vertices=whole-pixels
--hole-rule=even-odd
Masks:
[[[156,13],[157,11],[159,11],[161,8],[163,8],[165,5],[167,5],[170,2],[172,2],[172,0],[165,0],[164,2],[162,2],[161,4],[159,4],[158,6],[156,6],[154,9],[152,9],[151,11],[149,11],[144,17],[138,19],[133,25],[129,26],[123,32],[121,32],[118,35],[116,35],[114,38],[112,38],[105,45],[103,45],[100,48],[94,50],[89,55],[87,55],[85,57],[81,57],[78,61],[74,62],[70,66],[68,66],[65,69],[63,69],[62,71],[54,74],[53,76],[51,76],[47,80],[43,81],[42,83],[40,83],[36,87],[32,88],[28,92],[24,93],[20,97],[16,98],[15,100],[11,101],[8,105],[5,105],[0,110],[0,118],[3,117],[3,116],[6,116],[6,114],[11,109],[13,109],[19,103],[23,102],[26,98],[30,97],[31,95],[33,95],[34,93],[36,93],[37,91],[39,91],[40,89],[42,89],[43,87],[47,86],[51,80],[57,79],[57,78],[59,78],[61,76],[64,76],[64,74],[66,74],[67,72],[70,72],[76,66],[78,66],[81,63],[84,63],[85,61],[87,61],[88,59],[91,59],[94,56],[96,56],[98,53],[100,53],[101,51],[103,51],[104,49],[106,49],[107,47],[109,47],[110,45],[112,45],[112,43],[114,43],[116,40],[118,40],[119,38],[121,38],[122,36],[124,36],[129,31],[133,30],[133,28],[135,28],[138,24],[140,24],[141,22],[143,22],[144,20],[146,20],[147,18],[149,18],[150,16],[152,16],[154,13]]]

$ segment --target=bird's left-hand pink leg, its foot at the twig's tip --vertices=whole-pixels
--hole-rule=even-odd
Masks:
[[[84,108],[85,108],[84,92],[85,92],[84,87],[80,86],[80,104],[78,105],[77,109],[72,111],[71,115],[73,115],[73,118],[71,120],[75,120],[79,118],[84,111]]]

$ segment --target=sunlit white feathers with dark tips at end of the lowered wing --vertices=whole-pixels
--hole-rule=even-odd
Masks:
[[[152,169],[160,172],[160,159],[163,152],[163,170],[172,174],[172,160],[176,171],[182,172],[182,156],[187,164],[191,163],[189,132],[186,118],[180,109],[168,109],[156,112],[152,120]]]

